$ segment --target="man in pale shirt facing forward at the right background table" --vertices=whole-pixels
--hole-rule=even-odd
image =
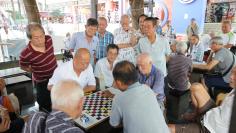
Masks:
[[[199,40],[199,36],[193,34],[190,37],[190,48],[189,48],[190,58],[195,62],[202,62],[204,56],[204,46]]]

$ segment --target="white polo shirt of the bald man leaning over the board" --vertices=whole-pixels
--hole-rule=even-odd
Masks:
[[[77,81],[82,88],[86,87],[87,85],[96,85],[91,64],[89,64],[87,69],[82,71],[78,77],[73,69],[73,60],[65,62],[58,66],[55,69],[53,76],[49,80],[48,85],[54,85],[60,80],[67,79]]]

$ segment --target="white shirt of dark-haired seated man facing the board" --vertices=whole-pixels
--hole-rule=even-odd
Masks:
[[[113,68],[114,66],[115,66],[115,63],[113,63]],[[101,76],[103,76],[105,86],[107,87],[112,86],[114,79],[113,79],[112,70],[110,69],[110,64],[107,60],[107,57],[104,57],[98,60],[95,66],[94,75],[98,79],[100,79]]]

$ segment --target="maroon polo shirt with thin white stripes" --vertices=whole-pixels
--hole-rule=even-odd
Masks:
[[[31,42],[20,54],[20,66],[32,68],[32,79],[36,82],[48,80],[57,67],[56,57],[52,45],[52,38],[45,36],[45,53],[35,51]]]

